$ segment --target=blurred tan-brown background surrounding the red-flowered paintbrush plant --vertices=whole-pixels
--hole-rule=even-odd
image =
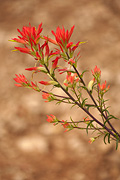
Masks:
[[[15,73],[25,72],[34,61],[11,52],[17,28],[43,22],[44,33],[75,24],[74,42],[81,47],[79,69],[98,65],[111,85],[110,110],[120,118],[120,1],[119,0],[0,0],[0,180],[120,180],[120,147],[91,135],[46,122],[46,114],[68,119],[67,107],[44,103],[37,92],[14,87]],[[88,80],[89,77],[88,77]],[[83,112],[76,113],[83,117]],[[119,129],[120,123],[113,122]],[[119,129],[120,130],[120,129]]]

